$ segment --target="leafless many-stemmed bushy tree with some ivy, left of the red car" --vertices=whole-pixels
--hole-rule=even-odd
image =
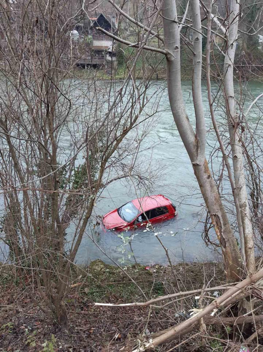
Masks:
[[[137,153],[158,104],[145,111],[150,77],[135,82],[140,46],[123,82],[103,83],[93,70],[87,81],[68,79],[78,57],[67,2],[0,7],[1,230],[32,300],[67,328],[70,271],[94,204],[114,180],[145,179]]]

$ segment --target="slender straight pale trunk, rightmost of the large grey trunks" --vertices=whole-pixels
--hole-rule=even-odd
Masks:
[[[233,170],[237,191],[238,203],[242,215],[242,227],[244,239],[245,265],[248,274],[253,274],[256,270],[254,254],[254,232],[249,211],[248,195],[245,184],[243,168],[243,153],[240,140],[239,121],[236,113],[233,68],[236,51],[237,29],[238,29],[239,4],[235,0],[230,2],[229,29],[227,31],[227,50],[224,60],[224,95],[227,108],[228,128],[230,135],[230,145],[233,159]],[[242,249],[243,250],[243,249]]]

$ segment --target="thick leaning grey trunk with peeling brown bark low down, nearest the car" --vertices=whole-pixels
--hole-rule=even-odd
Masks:
[[[193,0],[196,1],[196,0]],[[195,11],[199,9],[199,4],[195,5]],[[193,8],[192,5],[192,8]],[[205,143],[205,128],[204,128],[204,116],[200,110],[200,106],[195,104],[196,113],[196,133],[190,124],[186,109],[183,102],[182,88],[181,88],[181,63],[180,63],[180,34],[178,30],[176,2],[175,0],[165,0],[162,7],[163,15],[163,29],[164,29],[164,41],[166,49],[169,51],[167,55],[167,85],[168,95],[171,106],[173,117],[182,138],[183,144],[186,147],[190,160],[192,162],[195,176],[197,178],[200,190],[202,192],[205,204],[211,215],[211,220],[215,226],[216,234],[222,248],[222,254],[225,263],[225,269],[227,278],[229,281],[236,281],[240,275],[240,254],[238,251],[237,243],[234,234],[232,233],[227,214],[225,213],[222,201],[218,194],[214,180],[211,177],[207,161],[204,154],[204,143]],[[200,16],[200,13],[198,14]],[[196,26],[199,21],[196,20]],[[196,28],[197,29],[197,28]],[[197,31],[194,32],[194,41]],[[202,47],[202,41],[200,37],[196,42],[200,42]],[[200,46],[199,44],[199,46]],[[198,50],[199,46],[196,47]],[[202,50],[198,50],[195,55],[198,55],[199,59],[195,58],[194,55],[194,67],[198,66],[199,71],[202,64]],[[198,81],[200,85],[198,86]],[[193,82],[194,101],[200,99],[201,96],[201,76],[194,72]],[[202,108],[201,108],[202,109]]]

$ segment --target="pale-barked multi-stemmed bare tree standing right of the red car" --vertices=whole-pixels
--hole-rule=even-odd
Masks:
[[[234,96],[233,83],[233,67],[235,59],[235,48],[238,33],[238,19],[242,17],[240,11],[242,10],[238,4],[229,2],[224,6],[223,2],[213,5],[211,11],[208,11],[207,5],[203,1],[198,1],[197,4],[191,3],[191,16],[188,11],[188,4],[184,13],[178,18],[177,7],[181,4],[176,1],[164,1],[157,4],[156,8],[162,6],[162,20],[164,37],[160,35],[160,27],[156,25],[157,30],[149,29],[144,26],[138,19],[133,19],[130,15],[125,13],[114,1],[110,3],[124,18],[137,26],[138,33],[147,33],[150,31],[151,40],[145,44],[144,49],[156,51],[163,54],[167,61],[167,82],[168,93],[171,105],[171,110],[174,115],[174,120],[182,138],[183,144],[186,147],[190,161],[198,180],[205,204],[210,213],[211,221],[217,233],[218,240],[221,245],[228,277],[235,279],[240,275],[240,266],[242,266],[242,259],[236,244],[235,236],[229,224],[228,216],[226,215],[224,206],[221,201],[220,194],[216,189],[216,185],[211,180],[210,171],[205,160],[205,124],[201,95],[201,80],[202,80],[202,35],[207,27],[201,22],[200,10],[203,11],[204,19],[209,19],[213,22],[213,37],[208,38],[213,41],[216,47],[220,50],[220,55],[224,55],[224,72],[218,69],[217,78],[220,77],[220,86],[223,87],[225,96],[224,109],[228,117],[229,126],[229,140],[232,150],[233,159],[233,175],[234,180],[230,176],[230,163],[228,164],[228,173],[231,181],[232,192],[235,199],[237,223],[240,232],[241,252],[243,255],[243,268],[247,270],[248,274],[255,271],[255,254],[254,254],[254,232],[252,228],[251,215],[249,210],[249,201],[246,190],[244,166],[243,166],[243,142],[241,138],[242,131],[240,131],[240,119],[238,118],[236,109],[236,98]],[[251,5],[254,6],[254,5]],[[193,10],[194,8],[194,10]],[[193,12],[194,11],[194,12]],[[248,9],[245,10],[246,12]],[[168,15],[169,14],[169,15]],[[261,15],[260,15],[261,16]],[[191,18],[190,18],[191,17]],[[193,43],[191,45],[189,38],[182,33],[182,28],[188,28],[191,32]],[[103,29],[100,29],[103,31]],[[105,32],[105,31],[104,31]],[[221,34],[222,33],[222,34]],[[142,34],[138,34],[140,37]],[[158,46],[154,42],[154,38],[158,38]],[[222,48],[219,48],[216,38],[222,42]],[[115,37],[123,44],[129,46],[136,46],[137,43],[123,40]],[[164,48],[162,43],[164,42]],[[181,88],[181,48],[182,42],[186,43],[193,52],[193,102],[195,107],[196,128],[195,131],[191,126],[187,117],[186,109],[182,98]],[[151,43],[151,45],[150,45]],[[190,46],[191,45],[191,46]],[[214,51],[213,51],[214,55]],[[213,57],[214,59],[214,57]],[[210,65],[210,63],[208,62]],[[217,62],[215,62],[217,66]],[[210,99],[211,100],[211,99]],[[213,101],[211,100],[213,105]],[[241,132],[241,133],[240,133]],[[222,142],[222,141],[221,141]],[[222,143],[221,143],[222,144]],[[223,146],[223,144],[222,144]],[[226,155],[225,155],[226,157]],[[234,269],[236,268],[236,269]],[[232,272],[232,274],[230,274]]]

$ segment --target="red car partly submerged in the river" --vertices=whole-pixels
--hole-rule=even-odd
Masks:
[[[172,202],[162,194],[134,199],[103,216],[103,225],[108,230],[131,230],[173,219],[177,215]]]

